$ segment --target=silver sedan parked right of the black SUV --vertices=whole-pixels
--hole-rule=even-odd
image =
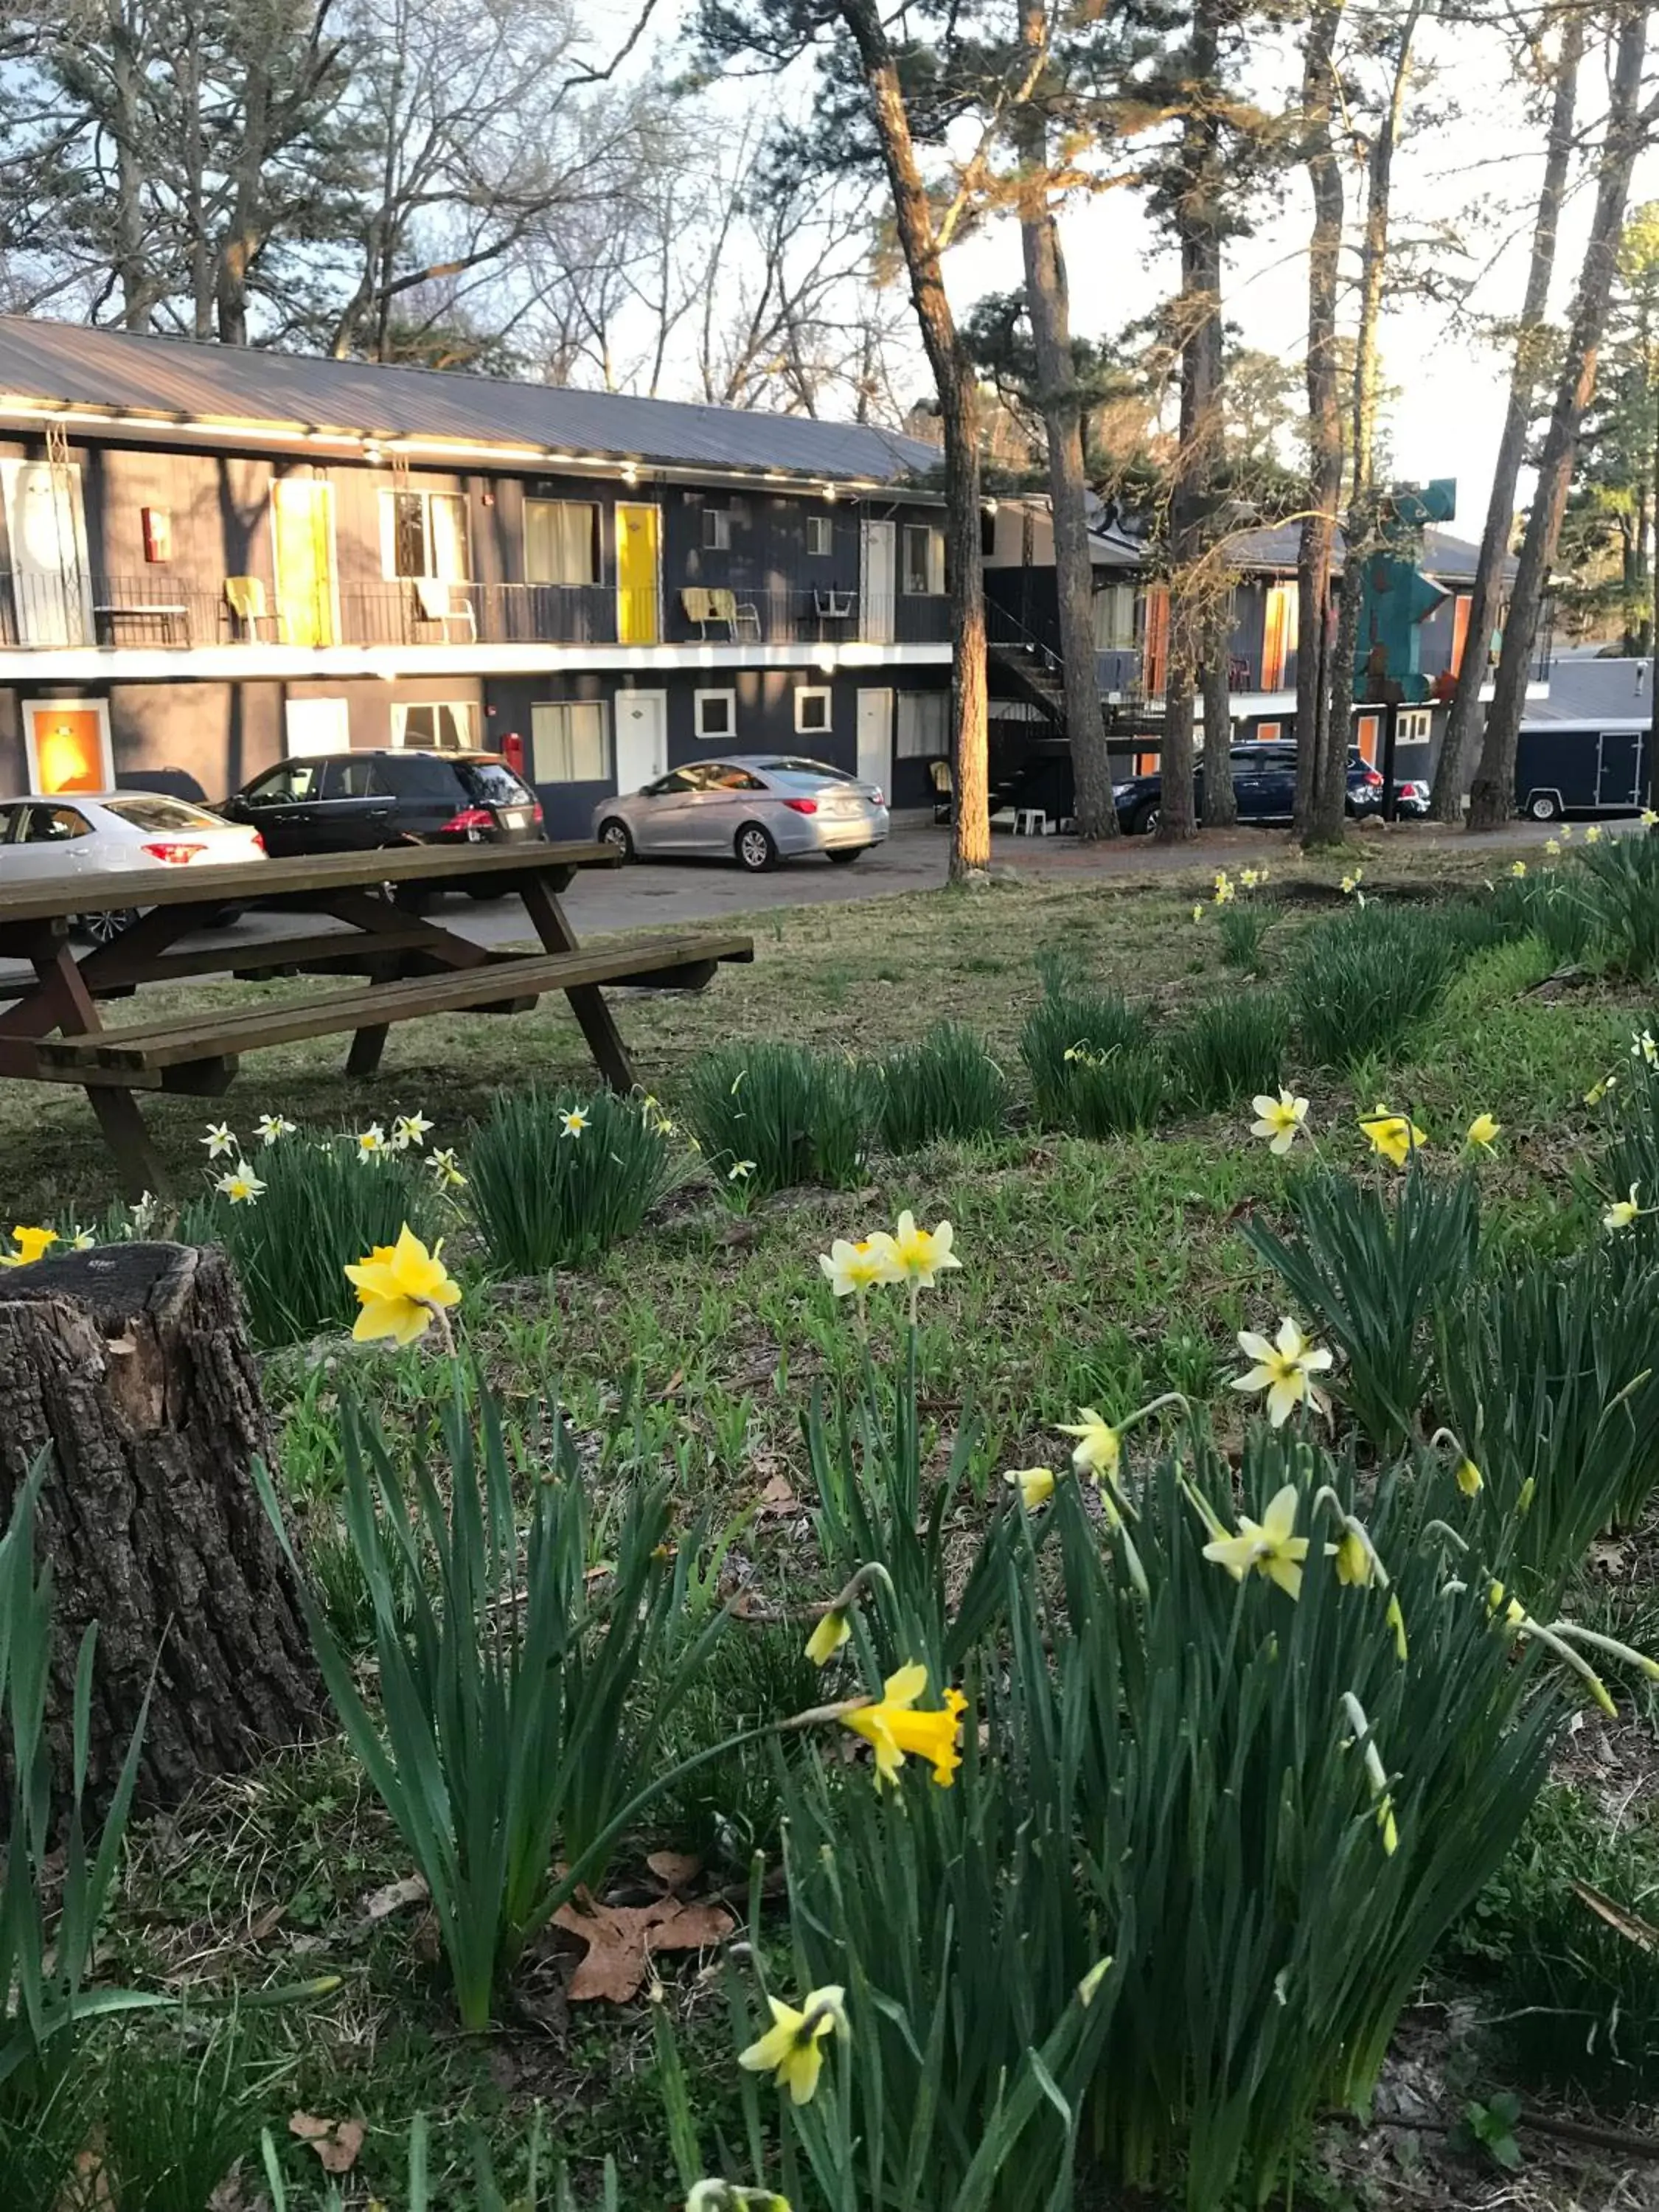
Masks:
[[[787,752],[728,752],[688,761],[639,792],[604,799],[593,834],[624,860],[635,854],[734,858],[750,874],[821,852],[856,860],[887,836],[874,783]]]

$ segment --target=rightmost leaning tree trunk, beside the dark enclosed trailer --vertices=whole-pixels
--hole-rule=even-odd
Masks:
[[[1590,239],[1584,248],[1584,268],[1566,334],[1562,378],[1555,387],[1555,407],[1551,409],[1544,451],[1537,460],[1537,491],[1533,493],[1526,535],[1520,562],[1515,564],[1515,584],[1509,595],[1509,619],[1504,622],[1504,646],[1498,655],[1498,677],[1493,679],[1493,697],[1486,708],[1480,770],[1469,794],[1471,830],[1498,830],[1515,812],[1515,741],[1520,734],[1522,701],[1526,699],[1526,668],[1533,657],[1533,637],[1537,633],[1537,615],[1544,604],[1551,562],[1555,560],[1555,542],[1562,533],[1579,425],[1584,422],[1584,409],[1595,396],[1595,363],[1619,265],[1619,237],[1624,230],[1624,206],[1630,197],[1630,170],[1646,135],[1646,117],[1639,108],[1646,51],[1648,9],[1646,4],[1626,4],[1619,11],[1613,97],[1601,142]]]

